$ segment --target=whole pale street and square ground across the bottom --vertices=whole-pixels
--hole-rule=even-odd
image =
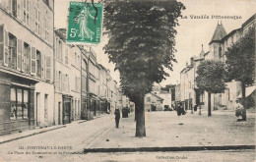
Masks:
[[[188,111],[180,126],[175,111],[147,112],[147,136],[137,138],[134,114],[122,118],[119,129],[114,127],[114,116],[107,115],[1,144],[1,160],[253,161],[255,150],[251,149],[83,154],[84,148],[254,145],[255,114],[248,112],[247,116],[247,122],[236,122],[233,112],[214,111],[212,117],[207,117],[207,112],[199,116]]]

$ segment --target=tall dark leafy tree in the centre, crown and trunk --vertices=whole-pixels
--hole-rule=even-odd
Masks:
[[[103,25],[109,40],[104,49],[120,72],[124,94],[135,103],[135,136],[146,136],[145,94],[168,76],[164,67],[172,70],[176,62],[174,27],[182,9],[176,0],[105,2]]]

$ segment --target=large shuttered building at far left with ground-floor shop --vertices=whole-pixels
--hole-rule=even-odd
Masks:
[[[54,124],[53,6],[0,1],[0,135]]]

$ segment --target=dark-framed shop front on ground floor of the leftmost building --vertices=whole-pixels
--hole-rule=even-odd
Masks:
[[[0,135],[34,129],[34,84],[0,72]]]

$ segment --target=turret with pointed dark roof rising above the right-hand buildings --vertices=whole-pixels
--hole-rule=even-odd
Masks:
[[[223,48],[224,44],[222,43],[222,38],[226,35],[226,32],[224,30],[224,26],[221,22],[215,29],[215,33],[212,37],[212,40],[209,43],[210,47],[210,54],[209,54],[209,59],[214,59],[214,60],[220,60],[222,55],[223,55]]]

